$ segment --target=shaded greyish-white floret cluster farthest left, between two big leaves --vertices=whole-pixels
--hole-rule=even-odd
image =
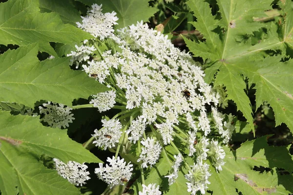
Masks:
[[[52,104],[48,101],[48,103],[42,104],[43,107],[39,106],[40,114],[44,115],[41,121],[47,122],[53,128],[69,127],[68,123],[75,119],[72,117],[73,114],[70,114],[72,109],[69,107],[64,108],[63,104],[59,104],[59,106],[54,102]]]

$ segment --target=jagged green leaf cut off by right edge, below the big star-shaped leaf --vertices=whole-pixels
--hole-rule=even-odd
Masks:
[[[280,58],[269,57],[241,68],[250,83],[256,83],[256,107],[267,101],[274,111],[276,125],[284,122],[293,131],[293,60],[280,62]]]

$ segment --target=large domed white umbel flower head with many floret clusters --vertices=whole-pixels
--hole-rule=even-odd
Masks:
[[[102,43],[105,39],[108,48],[99,51],[101,58],[87,61],[82,67],[89,77],[115,92],[115,97],[112,92],[93,96],[90,103],[100,112],[112,107],[121,108],[121,112],[112,119],[102,120],[103,128],[94,131],[93,143],[104,149],[117,146],[116,156],[124,142],[135,144],[139,150],[137,162],[142,169],[155,165],[166,145],[177,149],[176,144],[180,144],[189,150],[186,150],[189,156],[196,158],[186,174],[188,192],[204,194],[210,176],[206,160],[212,159],[212,165],[220,170],[225,156],[220,143],[210,141],[210,132],[214,135],[217,131],[219,138],[228,143],[232,129],[216,110],[221,97],[205,82],[204,72],[192,57],[175,48],[167,36],[149,29],[143,22],[115,31],[113,25],[118,20],[115,13],[103,14],[101,10],[101,6],[94,4],[83,17],[83,24],[78,26],[100,38],[90,42]],[[208,113],[210,108],[212,119]],[[176,182],[181,162],[186,163],[183,156],[174,156],[176,160],[166,176],[170,185]],[[122,176],[117,174],[121,172],[120,165],[116,165],[122,163],[120,158],[107,161],[110,165],[106,168],[112,175],[100,164],[96,169],[99,178],[110,187],[122,184]],[[124,178],[129,180],[130,176]],[[159,195],[161,192],[158,186],[149,184],[143,185],[143,192],[139,194]]]

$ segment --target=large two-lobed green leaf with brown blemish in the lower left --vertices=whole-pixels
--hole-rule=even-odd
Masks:
[[[79,163],[102,162],[71,140],[66,131],[44,127],[39,117],[12,116],[0,111],[0,190],[2,195],[19,191],[26,195],[79,194],[56,171],[39,161],[42,154]],[[17,188],[16,188],[17,186]]]

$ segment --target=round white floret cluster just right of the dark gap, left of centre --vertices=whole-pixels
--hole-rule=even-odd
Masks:
[[[122,134],[122,125],[117,119],[103,119],[102,123],[103,128],[100,131],[95,129],[95,134],[92,135],[96,139],[93,143],[95,143],[96,146],[104,147],[104,150],[106,150],[107,147],[112,148],[115,146],[115,143],[119,142]]]

